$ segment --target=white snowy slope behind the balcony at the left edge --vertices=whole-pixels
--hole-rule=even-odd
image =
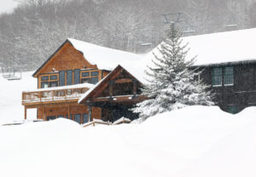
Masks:
[[[21,80],[9,81],[0,75],[0,124],[24,119],[24,107],[21,106],[22,91],[37,88],[37,79],[32,71],[23,72]],[[36,111],[28,110],[28,118],[35,118]]]

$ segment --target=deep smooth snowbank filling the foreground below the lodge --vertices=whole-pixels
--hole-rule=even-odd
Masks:
[[[191,106],[142,124],[0,127],[1,176],[256,176],[256,108]]]

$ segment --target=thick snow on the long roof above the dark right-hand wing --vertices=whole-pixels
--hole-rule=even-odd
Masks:
[[[256,28],[183,37],[189,43],[187,59],[197,55],[195,66],[256,61]],[[153,50],[155,52],[156,49]],[[154,59],[152,51],[147,58]]]

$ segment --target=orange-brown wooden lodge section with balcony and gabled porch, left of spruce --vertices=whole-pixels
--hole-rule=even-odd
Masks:
[[[37,117],[43,120],[66,117],[87,123],[93,118],[110,122],[136,118],[129,109],[144,99],[139,91],[142,83],[118,65],[127,58],[137,60],[138,55],[67,39],[32,75],[38,79],[38,89],[22,93],[25,119],[31,108],[37,108]]]

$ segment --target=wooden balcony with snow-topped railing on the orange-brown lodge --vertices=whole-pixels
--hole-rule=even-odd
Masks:
[[[94,85],[83,83],[64,87],[39,88],[34,91],[22,92],[22,105],[78,101],[81,95],[92,86]]]

